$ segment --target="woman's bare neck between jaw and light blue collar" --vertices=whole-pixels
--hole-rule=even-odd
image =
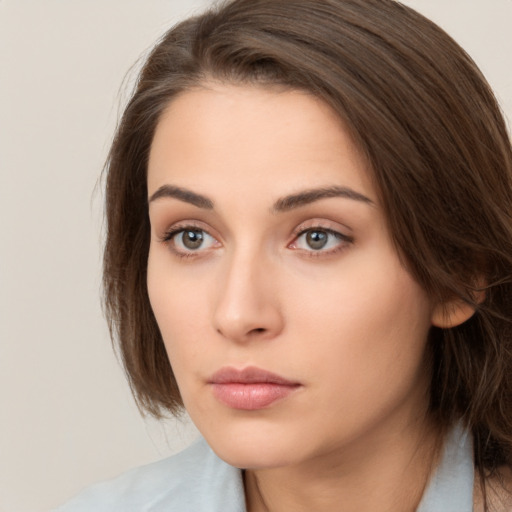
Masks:
[[[430,422],[379,428],[349,448],[295,466],[248,470],[248,512],[413,512],[437,462],[440,439]]]

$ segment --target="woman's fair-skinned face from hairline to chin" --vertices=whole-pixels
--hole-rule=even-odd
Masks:
[[[326,105],[256,86],[183,93],[157,127],[148,191],[151,305],[223,459],[300,464],[425,413],[431,304]]]

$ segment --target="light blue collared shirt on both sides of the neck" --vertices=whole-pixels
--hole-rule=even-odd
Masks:
[[[417,512],[472,512],[473,479],[471,437],[457,426]],[[96,484],[55,512],[245,511],[242,472],[200,440],[173,457]]]

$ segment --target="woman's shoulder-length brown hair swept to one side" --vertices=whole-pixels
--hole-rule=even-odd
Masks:
[[[510,139],[471,58],[394,0],[232,0],[150,53],[105,168],[106,314],[141,410],[182,408],[146,289],[148,154],[173,98],[212,80],[305,91],[337,113],[407,269],[437,303],[475,308],[431,329],[430,412],[471,429],[481,475],[512,467]]]

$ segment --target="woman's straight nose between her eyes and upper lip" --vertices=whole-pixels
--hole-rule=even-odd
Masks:
[[[239,343],[276,337],[284,321],[274,276],[272,265],[262,257],[234,254],[217,287],[217,332]]]

